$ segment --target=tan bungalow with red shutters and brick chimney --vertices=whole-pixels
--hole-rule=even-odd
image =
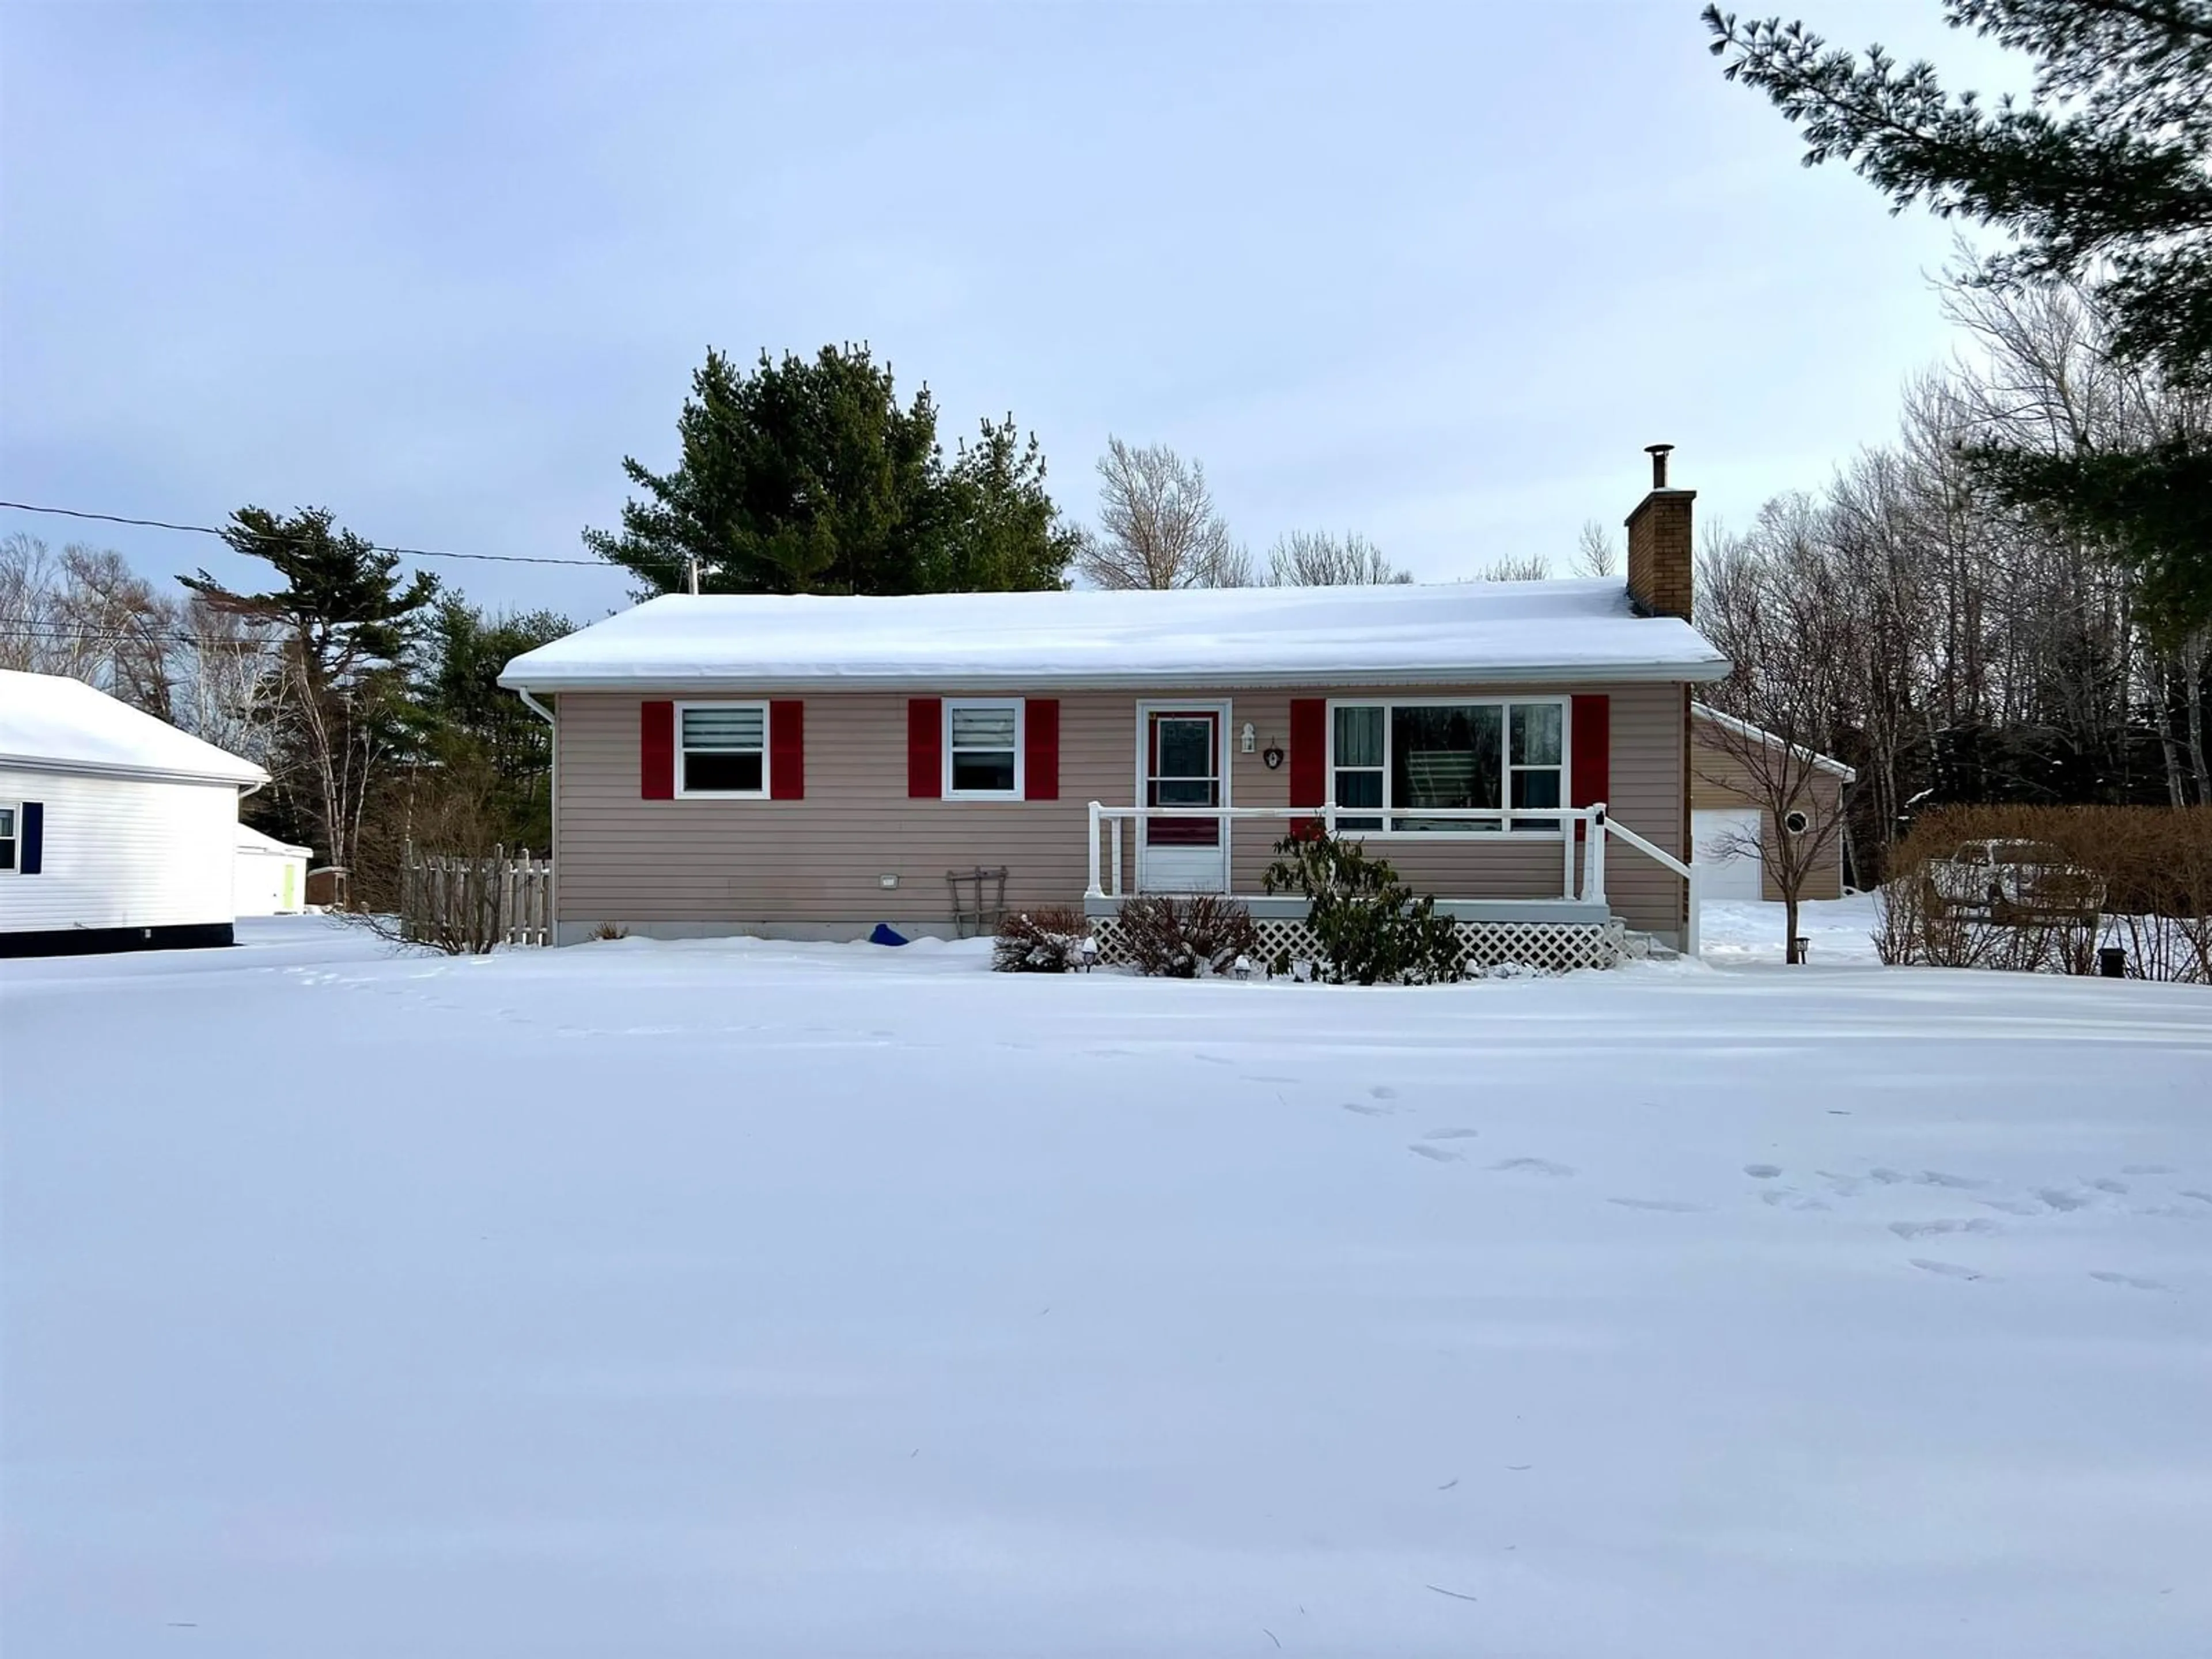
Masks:
[[[553,723],[555,942],[956,933],[1232,894],[1334,823],[1491,956],[1694,936],[1690,502],[1628,582],[650,599],[507,666]],[[987,872],[949,883],[951,872]],[[980,894],[978,894],[980,889]]]

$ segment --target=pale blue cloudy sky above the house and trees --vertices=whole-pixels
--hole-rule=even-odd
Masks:
[[[1944,356],[1951,232],[1798,166],[1694,0],[115,7],[0,22],[0,495],[582,557],[708,345],[865,338],[947,442],[1206,462],[1425,580],[1747,520]],[[1991,88],[1936,0],[1803,0]],[[159,575],[206,540],[0,511]],[[438,564],[577,617],[619,573]]]

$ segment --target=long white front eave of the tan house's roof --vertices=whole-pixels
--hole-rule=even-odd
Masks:
[[[1453,664],[1444,668],[1389,668],[1369,672],[1347,670],[1232,670],[1190,668],[1177,672],[1119,672],[1119,675],[1071,675],[1053,670],[1020,672],[967,672],[967,675],[681,675],[681,672],[637,672],[637,675],[500,675],[507,690],[531,695],[560,692],[905,692],[945,688],[1004,686],[1009,690],[1192,690],[1192,688],[1243,688],[1254,690],[1303,690],[1332,686],[1650,686],[1650,684],[1710,684],[1728,677],[1728,661],[1712,657],[1705,661],[1615,661],[1615,664],[1513,664],[1478,666]]]

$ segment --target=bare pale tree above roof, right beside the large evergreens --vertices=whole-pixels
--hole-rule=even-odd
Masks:
[[[1099,456],[1099,529],[1084,531],[1075,571],[1102,588],[1252,586],[1252,555],[1214,511],[1206,467],[1119,438]]]

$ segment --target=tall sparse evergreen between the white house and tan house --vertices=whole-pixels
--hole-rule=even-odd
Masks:
[[[396,553],[338,529],[325,507],[290,518],[243,507],[223,540],[276,566],[283,586],[239,593],[206,571],[177,580],[210,606],[281,635],[272,772],[296,792],[316,852],[352,869],[369,787],[407,741],[407,657],[438,580],[420,571],[403,577]]]

